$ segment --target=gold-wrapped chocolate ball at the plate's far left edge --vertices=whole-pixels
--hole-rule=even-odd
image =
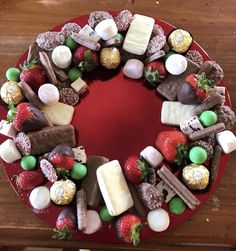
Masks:
[[[1,87],[1,98],[7,104],[17,105],[25,98],[15,81],[7,81]]]

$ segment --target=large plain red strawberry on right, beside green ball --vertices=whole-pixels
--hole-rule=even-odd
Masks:
[[[188,156],[188,138],[180,131],[162,131],[158,134],[155,146],[165,160],[172,164],[185,163]]]

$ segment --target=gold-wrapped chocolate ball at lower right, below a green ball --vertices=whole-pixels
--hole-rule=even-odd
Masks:
[[[189,189],[203,190],[209,183],[210,173],[203,165],[191,164],[185,166],[182,171],[182,178]]]

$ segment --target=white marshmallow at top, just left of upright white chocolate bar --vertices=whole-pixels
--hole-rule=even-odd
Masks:
[[[98,23],[95,27],[95,31],[103,40],[109,40],[113,38],[117,32],[118,28],[113,19],[106,19]]]

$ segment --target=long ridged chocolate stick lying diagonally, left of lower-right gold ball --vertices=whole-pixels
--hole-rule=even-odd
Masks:
[[[200,204],[200,201],[165,166],[162,166],[157,173],[160,178],[179,195],[190,209],[193,210]]]

